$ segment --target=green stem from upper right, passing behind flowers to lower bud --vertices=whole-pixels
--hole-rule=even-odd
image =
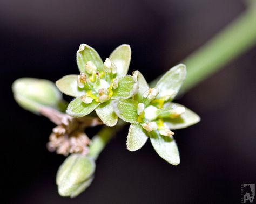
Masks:
[[[187,77],[181,91],[186,92],[196,86],[256,43],[255,7],[252,5],[217,36],[184,60],[187,66]],[[160,76],[152,81],[150,86],[154,87],[159,78]],[[97,159],[107,142],[124,124],[126,123],[122,122],[115,128],[102,128],[92,138],[90,155]]]

